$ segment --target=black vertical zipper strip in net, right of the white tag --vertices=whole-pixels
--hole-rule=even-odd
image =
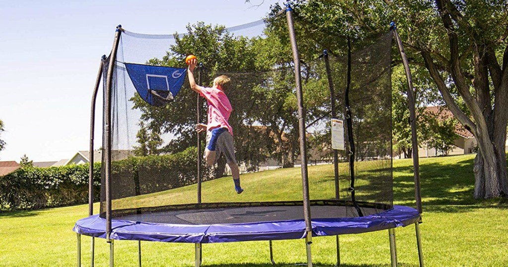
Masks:
[[[344,94],[344,104],[346,108],[346,125],[347,125],[347,139],[350,143],[349,152],[349,166],[350,166],[350,177],[351,185],[349,191],[351,192],[351,201],[355,207],[358,216],[362,217],[362,211],[356,203],[355,197],[355,139],[353,138],[353,112],[349,102],[349,93],[351,88],[351,39],[347,37],[347,79],[346,79],[346,90]]]

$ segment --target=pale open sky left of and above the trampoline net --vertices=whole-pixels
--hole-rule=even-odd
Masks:
[[[88,150],[93,86],[116,25],[144,34],[183,33],[198,21],[255,21],[273,4],[283,2],[0,1],[0,120],[6,130],[0,138],[7,142],[0,161],[19,162],[25,154],[34,162],[58,161]],[[100,110],[96,149],[102,142]]]

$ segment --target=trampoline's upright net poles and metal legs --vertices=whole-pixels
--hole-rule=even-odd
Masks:
[[[309,200],[309,189],[308,189],[308,174],[307,174],[307,158],[306,158],[306,135],[305,135],[305,121],[304,121],[304,107],[303,107],[303,96],[302,96],[302,88],[301,88],[301,77],[300,77],[300,59],[298,54],[298,47],[296,43],[296,35],[295,35],[295,29],[293,25],[293,14],[292,14],[292,8],[290,4],[286,5],[285,9],[285,15],[288,22],[288,28],[289,28],[289,35],[290,35],[290,41],[293,51],[293,60],[294,60],[294,66],[295,66],[295,82],[296,82],[296,95],[297,95],[297,102],[298,102],[298,117],[299,117],[299,133],[300,133],[300,150],[301,153],[301,168],[302,168],[302,191],[303,191],[303,211],[304,211],[304,220],[305,220],[305,246],[306,246],[306,254],[307,254],[307,266],[312,267],[312,257],[311,257],[311,244],[312,244],[312,226],[311,226],[311,219],[310,219],[310,200]],[[282,13],[282,12],[281,12]],[[419,177],[419,162],[418,162],[418,149],[415,149],[415,147],[418,146],[416,142],[416,120],[415,120],[415,100],[413,97],[413,86],[412,86],[412,78],[411,73],[409,70],[409,64],[407,57],[405,55],[402,42],[400,40],[400,37],[397,33],[397,28],[395,26],[395,23],[392,22],[390,24],[391,29],[395,32],[395,39],[397,43],[398,50],[400,52],[400,55],[402,57],[402,62],[404,65],[404,70],[406,73],[406,79],[408,83],[407,88],[407,96],[408,96],[408,106],[410,111],[410,124],[411,124],[411,136],[412,136],[412,147],[413,147],[413,164],[414,164],[414,176],[415,176],[415,199],[417,202],[417,209],[419,214],[422,214],[422,205],[421,205],[421,194],[420,194],[420,177]],[[97,76],[96,86],[94,87],[94,93],[92,97],[92,105],[91,105],[91,117],[90,117],[90,159],[93,159],[93,129],[94,129],[94,117],[95,117],[95,105],[96,105],[96,98],[97,98],[97,92],[99,90],[101,76],[103,75],[103,66],[104,64],[108,64],[108,73],[106,75],[106,91],[105,91],[105,127],[104,127],[104,133],[103,137],[105,138],[104,142],[106,143],[106,147],[104,150],[104,157],[105,157],[105,164],[104,167],[106,169],[105,172],[105,190],[106,190],[106,241],[110,244],[110,252],[109,252],[109,265],[112,267],[114,265],[114,240],[110,238],[111,234],[111,132],[110,132],[110,126],[111,126],[111,87],[112,87],[112,75],[113,75],[113,66],[114,62],[116,61],[116,52],[118,49],[119,39],[120,35],[124,30],[121,28],[121,25],[118,25],[115,32],[114,42],[113,42],[113,48],[111,50],[111,54],[109,57],[109,62],[106,63],[106,57],[103,56],[101,60],[101,65],[99,68],[99,74]],[[349,39],[348,39],[349,43]],[[324,57],[325,62],[327,65],[327,69],[329,68],[328,63],[328,54],[326,50],[324,51]],[[201,69],[201,68],[200,68]],[[329,74],[329,70],[327,70],[327,74]],[[200,77],[201,75],[199,75]],[[333,98],[333,83],[331,81],[331,78],[329,77],[329,84],[330,90],[332,91],[332,106],[335,105]],[[197,118],[198,121],[200,120],[200,98],[198,96],[198,114]],[[332,112],[333,113],[333,112]],[[333,115],[333,114],[332,114]],[[201,138],[198,135],[198,144],[201,142]],[[200,157],[198,155],[198,159],[200,160]],[[92,160],[90,162],[93,162]],[[338,195],[338,171],[337,171],[337,155],[334,154],[334,172],[335,172],[335,181],[336,181],[336,195]],[[198,162],[198,203],[201,203],[201,177],[199,175],[200,172],[200,164]],[[354,190],[354,188],[353,188]],[[353,200],[353,202],[355,202]],[[356,203],[354,203],[356,204]],[[93,214],[93,164],[90,164],[89,167],[89,216]],[[420,221],[415,223],[415,231],[416,231],[416,239],[417,239],[417,247],[418,247],[418,256],[419,256],[419,262],[420,267],[424,266],[423,263],[423,252],[422,252],[422,244],[421,244],[421,233],[420,233],[420,226],[419,224],[422,223],[421,217]],[[397,227],[397,226],[396,226]],[[395,240],[395,227],[391,227],[388,229],[389,232],[389,241],[390,241],[390,256],[391,256],[391,263],[393,267],[397,266],[397,249],[396,249],[396,240]],[[77,234],[77,266],[81,266],[81,235],[80,233]],[[90,266],[93,267],[94,265],[94,237],[91,236],[91,243],[90,243],[90,252],[91,252],[91,262]],[[272,240],[269,240],[269,251],[270,251],[270,261],[273,265],[275,265],[274,260],[274,254],[273,254],[273,244]],[[339,246],[339,236],[336,235],[336,252],[337,252],[337,264],[335,266],[340,266],[340,246]],[[141,241],[138,241],[138,264],[141,266]],[[197,267],[201,266],[202,263],[202,244],[201,243],[195,243],[195,264]]]

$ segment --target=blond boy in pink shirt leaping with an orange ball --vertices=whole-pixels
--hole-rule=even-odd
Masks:
[[[208,123],[206,125],[196,125],[198,133],[206,131],[207,144],[204,158],[206,163],[212,166],[220,158],[220,155],[224,153],[226,161],[231,168],[236,193],[241,194],[243,189],[240,187],[240,170],[235,158],[233,129],[228,123],[233,108],[224,93],[227,90],[230,78],[225,75],[218,76],[213,79],[213,86],[211,88],[200,86],[196,84],[193,74],[197,64],[198,61],[196,59],[190,61],[187,75],[190,88],[204,97],[208,102]]]

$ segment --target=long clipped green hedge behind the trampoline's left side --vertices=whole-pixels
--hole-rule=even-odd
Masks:
[[[189,147],[172,155],[114,161],[111,166],[113,186],[126,190],[113,197],[146,194],[196,183],[196,151],[196,147]],[[24,167],[0,177],[0,211],[87,203],[88,166]],[[203,177],[209,177],[209,168],[203,166],[202,169]],[[101,163],[94,163],[93,186],[94,201],[99,201]]]

